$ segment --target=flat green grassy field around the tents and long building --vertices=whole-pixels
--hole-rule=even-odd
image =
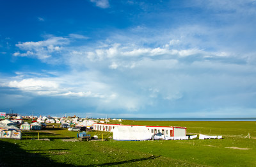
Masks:
[[[22,132],[21,140],[0,139],[0,166],[256,166],[256,122],[150,122],[129,125],[187,127],[188,134],[222,135],[223,139],[184,141],[113,141],[109,132],[89,132],[106,141],[75,139],[67,129]],[[56,127],[56,126],[55,126]],[[50,141],[38,141],[47,138]],[[244,138],[250,133],[252,138]]]

